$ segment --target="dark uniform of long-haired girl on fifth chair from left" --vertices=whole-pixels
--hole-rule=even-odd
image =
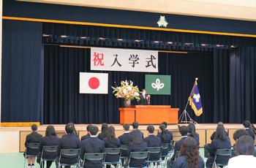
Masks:
[[[105,137],[103,141],[105,142],[105,148],[120,148],[121,146],[121,142],[118,138],[115,138],[115,140],[110,141],[108,140],[107,137]],[[119,155],[107,154],[105,157],[105,162],[116,162],[116,161],[119,161],[118,158],[119,158]]]

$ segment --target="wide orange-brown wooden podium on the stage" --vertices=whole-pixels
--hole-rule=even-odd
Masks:
[[[178,108],[168,105],[135,105],[129,108],[119,108],[120,123],[159,124],[178,123]]]

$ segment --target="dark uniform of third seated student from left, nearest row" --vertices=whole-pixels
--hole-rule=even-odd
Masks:
[[[67,134],[59,140],[58,146],[58,156],[61,153],[61,149],[79,149],[80,148],[80,140],[75,134]],[[73,164],[78,161],[77,158],[69,157],[69,156],[61,156],[62,164]]]

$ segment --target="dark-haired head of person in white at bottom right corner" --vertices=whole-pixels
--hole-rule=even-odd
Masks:
[[[243,135],[236,141],[236,155],[252,155],[255,151],[254,141],[249,135]]]

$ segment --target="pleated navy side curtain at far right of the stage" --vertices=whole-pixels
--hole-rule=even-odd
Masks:
[[[256,47],[230,51],[230,122],[256,122]]]

